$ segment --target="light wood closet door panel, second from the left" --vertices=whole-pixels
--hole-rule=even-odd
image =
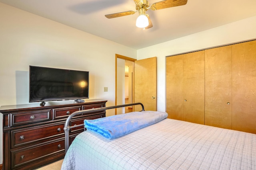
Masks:
[[[184,54],[184,121],[204,124],[204,51]]]

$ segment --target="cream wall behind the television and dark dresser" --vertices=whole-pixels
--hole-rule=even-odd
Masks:
[[[108,100],[107,106],[113,106],[115,54],[136,59],[135,49],[0,3],[0,106],[28,103],[29,65],[88,70],[90,99]]]

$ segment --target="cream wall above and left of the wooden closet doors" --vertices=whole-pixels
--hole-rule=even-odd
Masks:
[[[166,110],[166,56],[256,39],[256,16],[137,51],[137,59],[157,57],[157,110]]]

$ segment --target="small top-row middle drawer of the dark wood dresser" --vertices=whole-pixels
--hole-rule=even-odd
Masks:
[[[52,119],[62,119],[62,118],[68,117],[71,113],[79,110],[81,110],[80,106],[52,109],[52,113],[53,113]]]

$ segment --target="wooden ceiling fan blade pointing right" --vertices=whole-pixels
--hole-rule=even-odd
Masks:
[[[164,8],[170,8],[175,6],[186,5],[188,0],[164,0],[160,2],[156,2],[150,6],[151,10],[161,10]]]

